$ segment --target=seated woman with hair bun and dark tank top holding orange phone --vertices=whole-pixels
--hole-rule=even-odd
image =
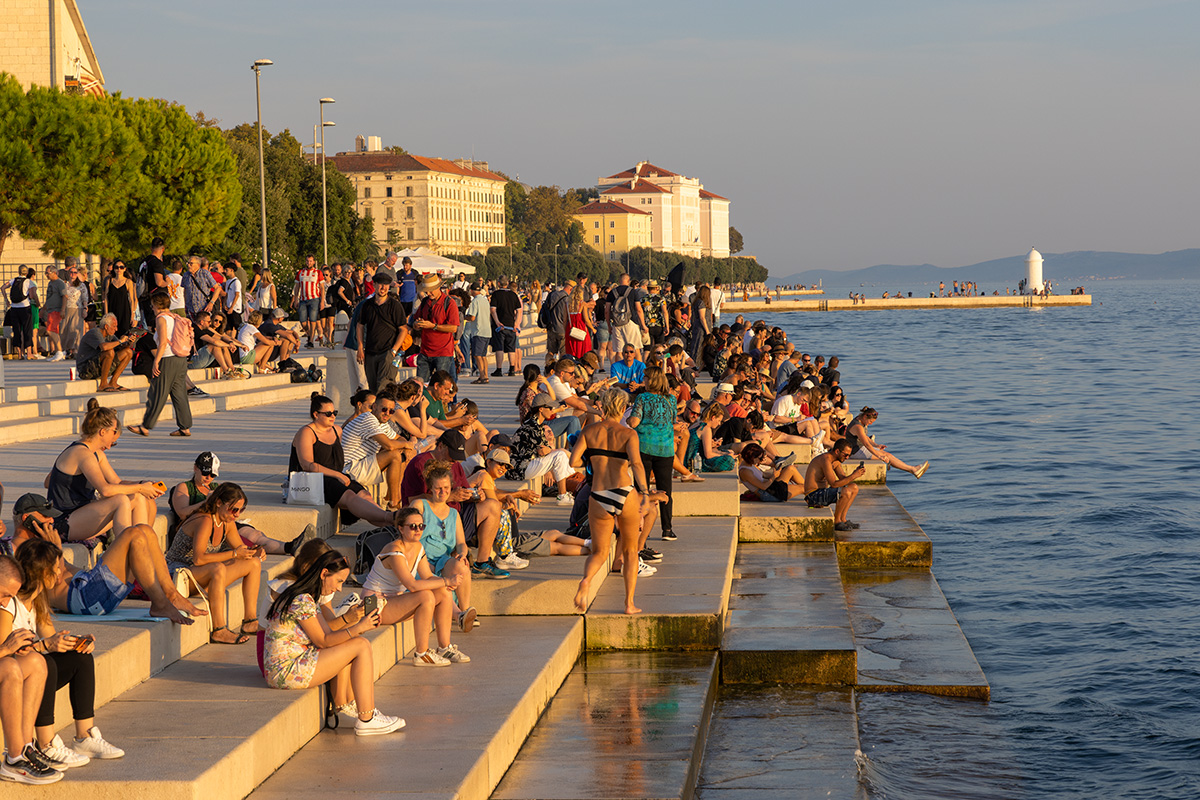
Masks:
[[[95,537],[109,528],[120,534],[130,525],[152,527],[162,485],[122,481],[106,455],[121,438],[116,411],[92,397],[79,433],[79,441],[59,453],[44,481],[47,498],[62,512],[55,521],[62,539],[94,547]]]

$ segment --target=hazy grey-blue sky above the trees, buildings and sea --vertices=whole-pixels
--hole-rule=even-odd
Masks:
[[[1200,245],[1200,4],[79,0],[107,89],[732,200],[773,275]]]

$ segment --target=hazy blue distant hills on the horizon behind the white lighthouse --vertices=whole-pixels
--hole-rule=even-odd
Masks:
[[[1042,253],[1043,272],[1057,288],[1080,282],[1130,278],[1139,281],[1169,281],[1200,278],[1200,248],[1177,249],[1170,253],[1110,253],[1074,251]],[[934,266],[932,264],[878,264],[862,270],[808,270],[782,277],[772,277],[770,285],[780,283],[805,285],[821,281],[826,285],[854,287],[859,283],[888,289],[908,290],[916,284],[944,281],[976,281],[980,287],[1013,287],[1025,277],[1025,253],[980,261],[970,266]]]

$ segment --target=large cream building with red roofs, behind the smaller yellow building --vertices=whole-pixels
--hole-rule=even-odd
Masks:
[[[596,181],[604,199],[650,213],[652,247],[684,255],[730,254],[730,200],[686,178],[640,161]]]

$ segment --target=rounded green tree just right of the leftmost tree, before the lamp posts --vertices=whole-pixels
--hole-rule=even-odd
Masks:
[[[222,241],[241,207],[242,186],[221,131],[164,100],[110,102],[146,152],[116,224],[121,247],[140,252],[162,236],[168,252],[180,253]]]

